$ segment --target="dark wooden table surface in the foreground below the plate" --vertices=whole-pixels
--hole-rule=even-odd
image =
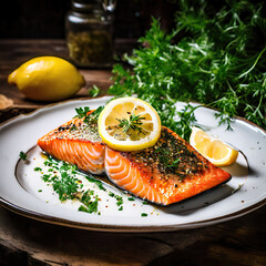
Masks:
[[[47,224],[0,208],[0,265],[266,265],[266,207],[209,227],[101,233]]]

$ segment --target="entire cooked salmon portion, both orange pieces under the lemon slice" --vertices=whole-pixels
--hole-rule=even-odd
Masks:
[[[95,123],[74,119],[38,141],[52,156],[76,164],[94,174],[106,173],[110,181],[129,193],[160,205],[197,195],[231,175],[203,157],[176,133],[162,126],[157,143],[135,152],[106,146]]]

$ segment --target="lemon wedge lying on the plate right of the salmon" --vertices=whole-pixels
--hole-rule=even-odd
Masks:
[[[198,127],[192,129],[190,144],[194,146],[204,157],[217,166],[227,166],[233,164],[238,151],[225,144],[218,139],[209,136]]]

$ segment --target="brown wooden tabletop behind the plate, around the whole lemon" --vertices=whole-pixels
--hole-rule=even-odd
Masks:
[[[136,47],[135,40],[117,40],[115,54],[122,57],[126,51]],[[0,111],[0,123],[20,113],[27,113],[47,103],[34,102],[25,99],[16,85],[9,85],[8,75],[27,60],[40,55],[55,55],[68,59],[66,47],[63,40],[1,40],[0,41],[0,94],[13,100],[13,106]],[[112,83],[111,69],[84,70],[86,84],[76,93],[75,98],[89,98],[88,92],[93,85],[101,89],[100,95],[106,93]]]

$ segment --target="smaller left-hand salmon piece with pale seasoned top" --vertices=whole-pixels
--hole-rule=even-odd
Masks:
[[[93,111],[90,111],[90,115]],[[105,144],[98,134],[96,121],[73,119],[38,140],[38,145],[51,156],[75,164],[92,174],[104,172]]]

